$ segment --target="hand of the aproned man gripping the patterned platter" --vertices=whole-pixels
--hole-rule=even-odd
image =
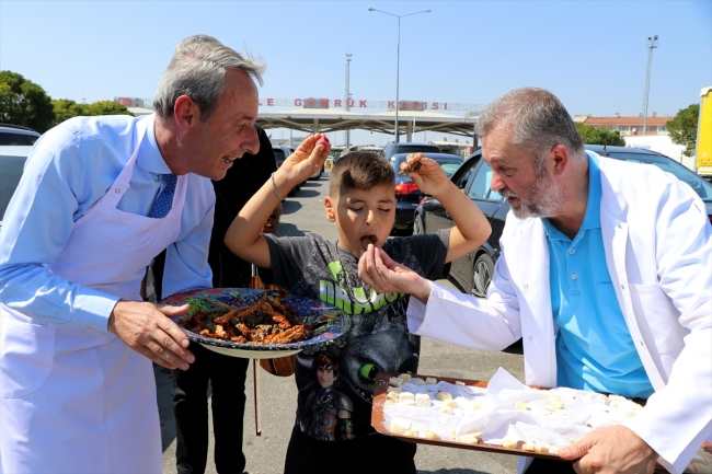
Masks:
[[[118,301],[108,317],[108,331],[116,334],[128,347],[166,369],[187,370],[195,356],[185,348],[191,344],[183,331],[169,320],[191,309],[157,307],[138,301]]]

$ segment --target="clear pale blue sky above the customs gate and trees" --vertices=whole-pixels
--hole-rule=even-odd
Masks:
[[[53,99],[151,99],[175,45],[204,33],[267,61],[263,99],[343,99],[351,50],[353,97],[393,100],[398,20],[369,7],[432,10],[401,20],[401,100],[485,104],[536,85],[572,114],[638,115],[652,35],[650,113],[675,115],[712,85],[711,0],[0,0],[0,69]],[[389,139],[376,135],[357,140]]]

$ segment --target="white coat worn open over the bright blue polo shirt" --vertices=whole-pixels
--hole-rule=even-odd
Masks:
[[[652,165],[599,163],[606,263],[655,389],[627,426],[666,469],[682,472],[712,432],[712,229],[687,184]],[[432,284],[427,305],[411,299],[410,328],[484,350],[522,337],[526,383],[555,386],[558,328],[541,220],[509,212],[501,244],[485,300]]]

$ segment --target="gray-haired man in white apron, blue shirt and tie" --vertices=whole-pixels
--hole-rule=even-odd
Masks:
[[[27,158],[0,234],[0,472],[161,473],[151,361],[187,369],[188,340],[142,302],[210,287],[215,194],[256,153],[262,62],[217,39],[182,42],[154,115],[77,117]]]

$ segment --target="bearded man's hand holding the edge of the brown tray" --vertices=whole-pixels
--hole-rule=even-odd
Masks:
[[[596,429],[559,455],[574,462],[574,471],[587,473],[645,473],[655,470],[657,453],[638,435],[624,426]]]

